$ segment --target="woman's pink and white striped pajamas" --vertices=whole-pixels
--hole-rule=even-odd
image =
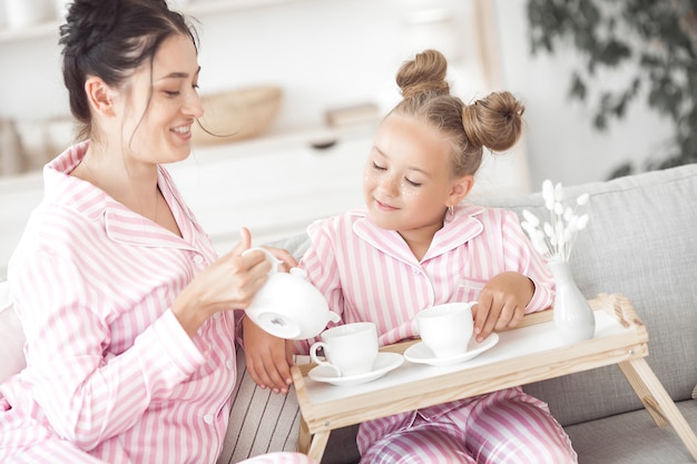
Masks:
[[[214,248],[164,168],[183,237],[70,177],[87,147],[46,166],[45,199],[10,261],[28,367],[0,385],[0,462],[214,463],[235,384],[234,313],[190,338],[169,309]]]

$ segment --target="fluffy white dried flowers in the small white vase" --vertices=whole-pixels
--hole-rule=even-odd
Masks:
[[[573,208],[563,206],[565,191],[561,184],[552,184],[547,179],[542,182],[542,199],[549,210],[550,220],[541,221],[537,216],[523,209],[521,227],[540,255],[550,260],[569,260],[571,248],[579,230],[588,226],[588,214],[577,215],[579,206],[585,206],[590,196],[583,194],[576,199]]]

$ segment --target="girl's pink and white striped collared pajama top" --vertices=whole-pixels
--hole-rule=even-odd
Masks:
[[[301,266],[310,280],[342,322],[376,323],[381,345],[414,337],[414,316],[421,309],[475,300],[489,279],[505,270],[534,283],[526,313],[547,308],[553,300],[552,276],[512,211],[457,207],[421,261],[396,231],[373,225],[363,208],[315,221],[307,231],[312,245]],[[300,343],[298,351],[307,353],[311,342]],[[363,452],[389,431],[409,426],[418,413],[436,417],[468,401],[371,421],[361,426],[359,447]]]

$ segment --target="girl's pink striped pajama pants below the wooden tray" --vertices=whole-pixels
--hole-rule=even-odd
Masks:
[[[520,387],[408,413],[406,422],[399,417],[361,425],[361,464],[577,463],[547,404]]]

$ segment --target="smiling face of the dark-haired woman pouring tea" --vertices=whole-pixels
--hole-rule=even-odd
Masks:
[[[153,66],[138,69],[125,88],[124,147],[145,162],[180,161],[190,152],[192,125],[203,116],[197,92],[198,59],[192,39],[171,36]]]

